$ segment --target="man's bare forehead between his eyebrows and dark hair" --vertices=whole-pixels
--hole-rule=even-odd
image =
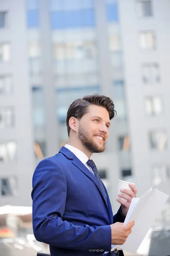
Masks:
[[[107,111],[106,108],[97,106],[97,105],[89,105],[87,108],[87,117],[92,117],[92,116],[99,116],[106,122],[109,122],[109,112]]]

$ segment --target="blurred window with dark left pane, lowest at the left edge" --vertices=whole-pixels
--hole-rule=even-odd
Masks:
[[[2,196],[18,196],[17,177],[4,177],[0,179],[0,190]]]

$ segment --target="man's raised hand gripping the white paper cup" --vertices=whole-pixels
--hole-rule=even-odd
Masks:
[[[130,207],[130,203],[132,201],[132,198],[135,198],[136,194],[137,194],[137,188],[133,184],[130,184],[130,187],[131,187],[132,190],[130,190],[130,189],[121,189],[121,192],[125,193],[126,195],[124,195],[124,194],[119,194],[118,195],[119,197],[126,199],[127,202],[121,200],[120,198],[117,198],[117,201],[121,204],[122,213],[123,213],[124,216],[127,215],[127,212],[129,210],[129,207]]]

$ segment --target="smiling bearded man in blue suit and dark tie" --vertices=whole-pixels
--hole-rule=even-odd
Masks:
[[[107,189],[90,160],[92,153],[104,151],[114,115],[106,96],[75,100],[66,118],[68,144],[35,169],[33,230],[38,241],[49,244],[51,256],[123,255],[110,253],[111,244],[124,244],[131,233],[134,221],[123,222],[137,189],[124,190],[121,197],[127,201],[117,199],[121,207],[113,216]]]

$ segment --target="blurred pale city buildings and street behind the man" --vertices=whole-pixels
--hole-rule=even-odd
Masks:
[[[0,0],[0,256],[48,252],[32,233],[32,175],[92,93],[117,111],[93,157],[113,212],[118,179],[170,195],[170,0]],[[170,201],[137,253],[170,255],[168,241]]]

